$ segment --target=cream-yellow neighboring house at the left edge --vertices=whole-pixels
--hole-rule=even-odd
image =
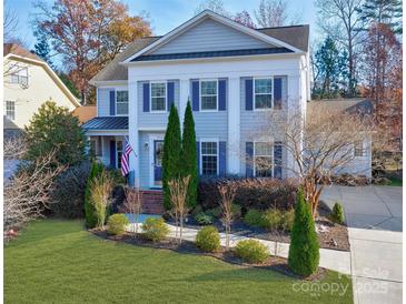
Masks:
[[[3,44],[4,135],[18,134],[48,100],[73,111],[79,101],[42,59],[16,43]]]

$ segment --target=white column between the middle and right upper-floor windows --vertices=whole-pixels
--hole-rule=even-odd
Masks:
[[[228,140],[227,140],[227,173],[240,173],[240,95],[239,78],[228,79]]]

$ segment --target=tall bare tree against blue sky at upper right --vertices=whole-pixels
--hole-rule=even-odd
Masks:
[[[357,57],[363,43],[360,28],[364,21],[358,10],[363,0],[316,0],[318,26],[339,42],[348,55],[348,94],[355,95]]]

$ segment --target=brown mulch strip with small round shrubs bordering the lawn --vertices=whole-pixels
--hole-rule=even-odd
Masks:
[[[276,272],[279,272],[281,274],[288,275],[290,277],[299,278],[299,280],[306,280],[306,281],[320,281],[325,277],[325,274],[327,272],[326,268],[318,267],[317,272],[311,274],[310,276],[303,277],[300,275],[295,274],[290,271],[287,259],[279,257],[279,256],[269,256],[264,263],[261,264],[248,264],[245,263],[241,259],[239,259],[232,250],[226,251],[225,247],[221,247],[220,251],[215,253],[207,253],[201,252],[198,247],[196,247],[196,244],[190,241],[182,241],[181,244],[177,244],[176,240],[174,237],[167,237],[166,240],[161,242],[154,243],[149,240],[146,240],[142,237],[142,234],[138,234],[137,237],[133,237],[131,234],[126,233],[123,235],[111,235],[107,233],[107,231],[100,231],[100,230],[89,230],[92,234],[113,242],[122,242],[130,245],[136,246],[142,246],[142,247],[152,247],[152,249],[159,249],[159,250],[170,250],[177,253],[184,253],[184,254],[196,254],[196,255],[204,255],[204,256],[211,256],[218,260],[221,260],[224,262],[239,265],[242,267],[255,267],[255,268],[264,268],[264,270],[273,270]]]

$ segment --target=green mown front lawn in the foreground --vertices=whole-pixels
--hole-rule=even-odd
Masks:
[[[4,249],[4,303],[353,303],[350,280],[305,281],[212,257],[100,240],[79,221],[32,223]],[[294,285],[297,283],[296,285]],[[331,284],[333,283],[333,284]],[[296,288],[294,288],[294,286]],[[331,292],[347,286],[346,293]]]

